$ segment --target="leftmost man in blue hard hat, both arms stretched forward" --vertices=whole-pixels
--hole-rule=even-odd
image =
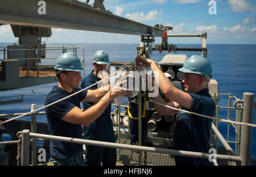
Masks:
[[[51,104],[80,91],[81,81],[80,59],[75,53],[64,53],[56,60],[56,75],[59,85],[54,86],[47,95],[45,105]],[[115,85],[112,90],[105,86],[102,90],[85,90],[61,102],[46,108],[46,117],[50,135],[72,138],[82,138],[81,125],[89,125],[96,120],[109,106],[112,99],[129,92]],[[117,89],[116,89],[117,88]],[[110,91],[108,91],[110,90]],[[80,102],[95,102],[94,106],[86,111],[80,109]],[[49,150],[51,165],[83,165],[82,145],[69,142],[50,141]]]

